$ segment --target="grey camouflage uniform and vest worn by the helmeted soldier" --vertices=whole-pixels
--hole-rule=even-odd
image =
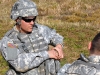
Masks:
[[[3,57],[9,63],[7,75],[56,75],[59,60],[50,59],[49,45],[63,43],[55,30],[35,24],[30,34],[19,33],[16,26],[0,41]]]

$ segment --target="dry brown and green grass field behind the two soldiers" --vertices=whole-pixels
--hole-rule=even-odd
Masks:
[[[10,11],[15,1],[0,0],[0,39],[14,25]],[[100,0],[34,1],[39,11],[37,22],[55,28],[64,37],[65,58],[61,64],[73,62],[81,52],[88,55],[88,42],[100,32]],[[7,68],[0,56],[0,75],[4,75]]]

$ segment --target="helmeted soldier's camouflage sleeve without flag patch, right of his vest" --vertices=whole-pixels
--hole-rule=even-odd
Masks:
[[[54,46],[56,46],[57,44],[63,45],[63,36],[58,34],[56,30],[42,25],[39,26],[39,30],[47,43]]]

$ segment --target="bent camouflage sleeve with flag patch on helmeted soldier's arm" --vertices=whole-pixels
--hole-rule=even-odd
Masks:
[[[47,51],[41,51],[39,53],[20,53],[20,50],[14,46],[13,41],[8,37],[4,37],[1,40],[0,49],[6,61],[19,72],[25,72],[37,67],[49,58]]]

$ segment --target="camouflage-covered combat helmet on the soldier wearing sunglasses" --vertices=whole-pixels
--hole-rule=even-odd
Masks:
[[[16,20],[19,16],[37,16],[36,4],[31,0],[18,0],[14,3],[11,10],[11,19]]]

